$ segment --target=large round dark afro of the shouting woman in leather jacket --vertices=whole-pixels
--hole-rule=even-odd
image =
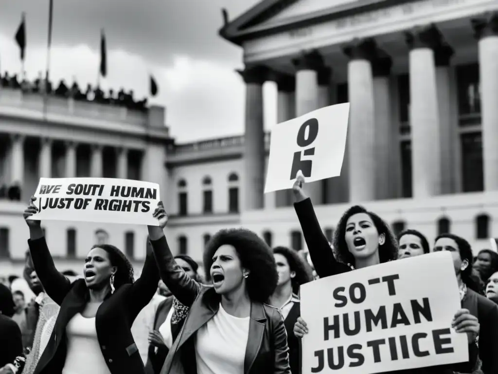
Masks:
[[[266,303],[277,286],[276,263],[268,244],[250,230],[231,228],[220,230],[213,235],[204,250],[206,278],[210,280],[210,269],[215,252],[226,244],[235,247],[242,267],[250,271],[246,283],[249,298]]]

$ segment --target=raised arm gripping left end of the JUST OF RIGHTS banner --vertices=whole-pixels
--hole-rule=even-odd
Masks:
[[[32,196],[31,201],[31,204],[23,213],[24,220],[29,227],[30,239],[28,240],[28,246],[31,260],[45,292],[53,301],[61,305],[71,289],[71,282],[55,268],[54,260],[50,255],[43,230],[40,226],[40,221],[29,219],[29,217],[38,211],[38,208],[33,203],[36,201],[36,197]]]

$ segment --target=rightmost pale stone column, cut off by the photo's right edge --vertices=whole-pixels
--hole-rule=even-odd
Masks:
[[[498,190],[498,12],[473,20],[479,40],[484,189]]]

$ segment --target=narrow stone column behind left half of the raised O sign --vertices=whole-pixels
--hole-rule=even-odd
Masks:
[[[277,84],[277,123],[296,117],[296,78],[292,75],[279,74]],[[275,192],[275,207],[292,205],[292,189]]]

